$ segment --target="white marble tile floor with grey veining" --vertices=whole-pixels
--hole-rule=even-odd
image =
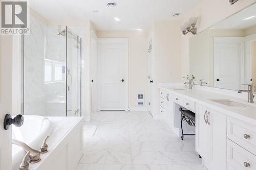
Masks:
[[[97,112],[84,125],[76,170],[206,170],[195,138],[182,141],[148,112]]]

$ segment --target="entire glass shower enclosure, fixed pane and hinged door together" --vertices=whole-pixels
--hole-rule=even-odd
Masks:
[[[81,116],[81,38],[34,22],[22,46],[23,114]]]

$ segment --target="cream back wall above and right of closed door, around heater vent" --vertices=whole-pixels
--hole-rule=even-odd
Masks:
[[[147,33],[143,31],[98,31],[98,38],[129,38],[129,109],[147,110]],[[144,91],[144,107],[137,93]]]

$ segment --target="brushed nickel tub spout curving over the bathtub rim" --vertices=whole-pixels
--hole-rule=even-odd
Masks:
[[[39,151],[36,151],[32,148],[30,148],[26,143],[22,142],[22,141],[19,141],[19,140],[15,140],[15,139],[12,139],[12,144],[16,144],[18,145],[19,147],[21,147],[26,153],[30,152],[29,153],[29,158],[30,158],[30,163],[37,163],[39,162],[41,159],[40,159],[40,152]]]

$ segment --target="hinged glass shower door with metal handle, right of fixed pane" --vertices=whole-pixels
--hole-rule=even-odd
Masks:
[[[81,116],[81,41],[67,27],[67,116]]]

